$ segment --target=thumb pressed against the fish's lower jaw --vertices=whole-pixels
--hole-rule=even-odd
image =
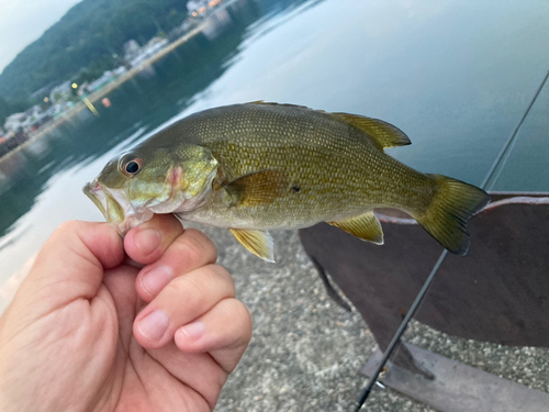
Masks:
[[[123,258],[122,238],[107,223],[65,222],[42,247],[13,303],[23,303],[36,319],[77,299],[92,299],[104,269]]]

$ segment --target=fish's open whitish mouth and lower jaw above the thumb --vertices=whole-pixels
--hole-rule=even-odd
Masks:
[[[97,179],[87,183],[82,191],[101,211],[107,222],[113,225],[122,236],[154,215],[150,210],[144,208],[135,210],[122,189],[109,189]]]

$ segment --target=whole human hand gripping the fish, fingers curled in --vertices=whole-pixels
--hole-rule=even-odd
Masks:
[[[124,241],[105,223],[59,226],[0,318],[0,410],[213,410],[251,336],[215,260],[172,215]]]

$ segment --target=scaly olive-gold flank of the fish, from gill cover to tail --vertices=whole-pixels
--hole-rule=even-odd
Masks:
[[[221,118],[228,115],[227,124],[239,124],[236,130],[225,124],[221,127],[224,133],[209,133],[220,120],[211,122],[208,129],[192,124],[180,130],[182,135],[197,133],[203,146],[224,159],[221,163],[226,165],[229,176],[282,168],[290,182],[300,187],[299,193],[292,192],[290,185],[274,202],[235,209],[228,215],[226,205],[212,199],[203,209],[184,218],[219,226],[231,221],[245,229],[306,227],[327,219],[355,216],[380,205],[418,209],[426,203],[424,198],[432,196],[430,187],[425,185],[426,175],[391,162],[359,131],[325,113],[294,110],[293,107],[258,105],[255,110],[234,107],[233,113],[223,112]],[[406,179],[402,179],[405,174]],[[382,176],[393,178],[380,179]],[[411,187],[415,190],[407,189]],[[284,207],[293,213],[280,216],[279,211]]]

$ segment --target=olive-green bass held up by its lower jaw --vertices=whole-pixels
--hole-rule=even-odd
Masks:
[[[469,219],[490,201],[475,186],[415,170],[384,153],[411,144],[391,123],[294,104],[232,104],[191,114],[111,159],[83,192],[124,236],[153,218],[225,227],[274,261],[270,230],[327,222],[382,245],[378,208],[414,218],[467,254]]]

